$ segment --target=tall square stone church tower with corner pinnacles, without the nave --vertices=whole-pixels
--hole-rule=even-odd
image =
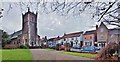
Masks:
[[[37,12],[28,12],[22,14],[22,39],[23,44],[29,47],[36,46],[37,38]]]

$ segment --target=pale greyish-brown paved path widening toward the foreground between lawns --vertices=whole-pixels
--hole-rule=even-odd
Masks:
[[[62,54],[62,51],[46,49],[30,49],[33,60],[93,60],[90,58]]]

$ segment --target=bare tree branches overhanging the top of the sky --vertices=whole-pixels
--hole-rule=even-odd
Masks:
[[[79,16],[83,13],[91,14],[91,18],[94,19],[97,17],[96,21],[104,21],[110,25],[116,25],[120,27],[119,17],[114,16],[114,14],[118,14],[119,5],[116,8],[113,6],[118,4],[118,0],[114,2],[95,2],[94,0],[85,1],[85,0],[52,0],[52,2],[46,0],[37,0],[32,2],[15,2],[13,4],[9,3],[9,9],[13,8],[13,6],[18,6],[21,9],[21,12],[25,11],[25,8],[30,7],[34,11],[44,12],[46,14],[56,12],[58,15],[66,16],[73,15]],[[113,8],[113,9],[111,9]],[[110,21],[111,20],[111,21]]]

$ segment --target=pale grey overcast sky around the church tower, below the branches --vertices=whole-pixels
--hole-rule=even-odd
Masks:
[[[21,12],[20,8],[14,6],[9,10],[8,2],[2,3],[4,8],[4,17],[2,18],[2,27],[9,34],[22,29],[22,13],[27,12],[27,8]],[[9,10],[9,12],[7,12]],[[31,9],[33,12],[33,10]],[[34,11],[35,12],[35,11]],[[38,35],[41,37],[62,36],[64,33],[79,32],[91,29],[97,20],[92,20],[89,14],[82,16],[60,16],[55,12],[46,14],[41,11],[38,13],[37,28]]]

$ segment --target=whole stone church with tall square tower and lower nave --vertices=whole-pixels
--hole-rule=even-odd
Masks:
[[[37,35],[37,12],[28,11],[22,14],[22,29],[10,35],[10,42],[29,47],[40,46],[40,36]]]

